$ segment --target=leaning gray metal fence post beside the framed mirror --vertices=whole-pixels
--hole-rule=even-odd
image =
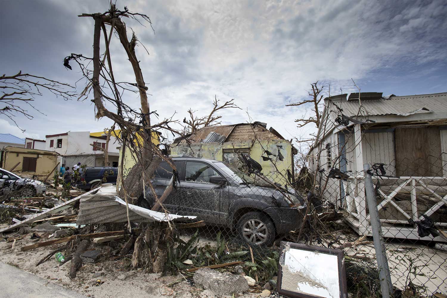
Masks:
[[[388,268],[388,258],[385,250],[384,236],[379,219],[379,211],[377,210],[377,200],[375,197],[374,184],[372,183],[371,174],[367,171],[370,165],[364,164],[365,172],[365,190],[368,201],[368,209],[371,218],[372,237],[374,241],[375,255],[377,259],[377,268],[379,269],[380,288],[383,298],[393,296],[390,270]]]

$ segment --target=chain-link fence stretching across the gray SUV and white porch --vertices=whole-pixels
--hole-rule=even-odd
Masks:
[[[219,270],[244,273],[274,291],[279,245],[286,240],[344,249],[348,293],[383,297],[362,172],[301,171],[293,180],[287,171],[261,174],[253,167],[240,171],[203,159],[174,158],[174,162],[180,183],[164,208],[197,216],[199,224],[178,230],[168,252],[168,263],[175,264],[172,268],[187,273],[194,267],[236,262]],[[407,162],[408,171],[415,164],[430,169],[427,161]],[[399,163],[402,170],[402,160]],[[446,293],[447,177],[397,177],[390,170],[396,161],[390,164],[372,164],[368,172],[388,258],[391,295]],[[160,164],[152,182],[157,193],[168,185],[169,170]]]

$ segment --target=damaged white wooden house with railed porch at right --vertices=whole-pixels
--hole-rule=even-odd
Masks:
[[[447,93],[328,97],[321,123],[309,168],[321,188],[328,180],[324,198],[346,211],[358,234],[371,233],[363,178],[367,163],[383,164],[385,171],[373,176],[376,184],[382,175],[377,201],[385,237],[419,239],[409,220],[424,215],[447,226]]]

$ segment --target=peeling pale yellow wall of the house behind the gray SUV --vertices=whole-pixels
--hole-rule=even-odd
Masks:
[[[225,155],[225,159],[232,159],[233,162],[230,163],[237,167],[236,156],[231,152],[233,148],[242,149],[241,151],[245,148],[249,152],[250,157],[261,164],[262,173],[279,184],[284,185],[287,183],[287,169],[293,172],[292,145],[285,140],[263,140],[255,141],[253,144],[252,142],[193,143],[190,146],[181,143],[172,145],[171,154],[185,154],[215,160],[224,160]],[[278,155],[278,150],[280,150],[284,159],[281,161],[277,156],[270,155],[269,157],[274,162],[272,163],[270,160],[264,161],[262,156],[267,156],[264,153],[265,150],[270,151],[274,155]]]

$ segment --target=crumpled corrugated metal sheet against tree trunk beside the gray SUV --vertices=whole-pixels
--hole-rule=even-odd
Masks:
[[[103,184],[93,195],[80,198],[77,225],[91,223],[127,222],[126,202],[116,196],[116,186]],[[129,204],[129,219],[131,222],[158,221],[166,222],[176,219],[194,219],[196,216],[181,216],[165,214]]]

